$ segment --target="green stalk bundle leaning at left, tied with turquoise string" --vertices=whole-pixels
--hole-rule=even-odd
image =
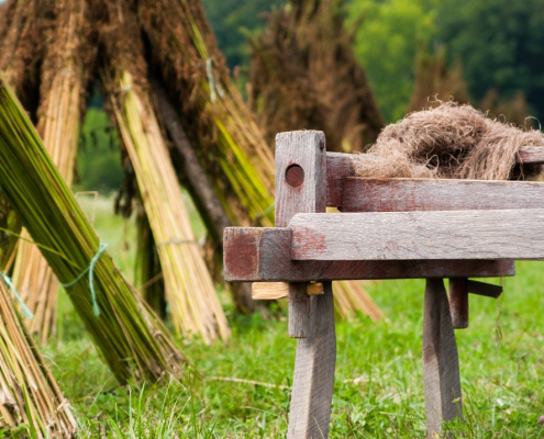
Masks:
[[[92,277],[85,275],[66,290],[118,380],[131,375],[157,380],[165,372],[177,373],[184,359],[166,328],[111,257],[99,254],[100,239],[1,79],[0,187],[60,282],[73,282],[96,262],[87,273]]]

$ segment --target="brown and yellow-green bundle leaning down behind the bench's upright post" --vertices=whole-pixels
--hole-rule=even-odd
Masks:
[[[167,91],[232,223],[273,225],[274,155],[230,79],[201,2],[137,7]]]

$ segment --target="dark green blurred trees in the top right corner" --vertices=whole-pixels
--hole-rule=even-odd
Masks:
[[[521,90],[544,115],[544,8],[541,0],[449,0],[438,7],[438,37],[463,61],[470,93]]]

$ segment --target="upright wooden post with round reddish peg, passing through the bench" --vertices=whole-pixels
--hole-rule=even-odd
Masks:
[[[295,131],[276,136],[276,227],[299,212],[326,212],[325,136],[319,131]],[[289,335],[309,334],[310,299],[306,285],[289,288]]]

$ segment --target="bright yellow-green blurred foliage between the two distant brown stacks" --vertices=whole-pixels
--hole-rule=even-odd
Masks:
[[[434,0],[353,0],[349,21],[362,18],[355,53],[370,79],[388,122],[404,115],[414,83],[419,45],[428,46],[435,33]]]

